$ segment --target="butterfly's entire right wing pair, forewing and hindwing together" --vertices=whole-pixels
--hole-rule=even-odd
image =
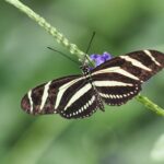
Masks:
[[[164,54],[133,51],[106,61],[92,71],[93,84],[108,105],[121,105],[141,91],[141,84],[164,68]]]

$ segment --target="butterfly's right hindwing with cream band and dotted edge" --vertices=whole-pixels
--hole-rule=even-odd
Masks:
[[[122,105],[141,90],[139,81],[120,73],[99,73],[92,78],[99,96],[108,105]]]

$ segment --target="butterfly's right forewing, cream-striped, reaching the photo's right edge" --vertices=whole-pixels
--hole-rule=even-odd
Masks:
[[[116,72],[142,83],[163,68],[163,52],[156,50],[139,50],[113,58],[96,67],[92,73]]]

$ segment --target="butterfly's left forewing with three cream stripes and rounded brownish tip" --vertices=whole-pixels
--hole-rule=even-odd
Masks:
[[[80,78],[81,75],[65,77],[28,91],[22,98],[22,108],[33,115],[58,113],[59,103],[63,99],[62,91],[66,92]]]

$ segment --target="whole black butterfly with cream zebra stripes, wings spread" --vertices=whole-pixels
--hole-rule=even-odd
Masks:
[[[115,57],[82,74],[49,81],[28,91],[22,108],[33,115],[59,114],[65,118],[84,118],[104,104],[122,105],[141,91],[141,84],[164,68],[164,54],[140,50]]]

